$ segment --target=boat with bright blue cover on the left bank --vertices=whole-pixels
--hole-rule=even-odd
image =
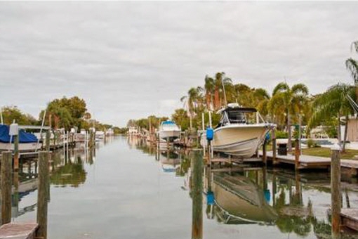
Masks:
[[[6,124],[0,124],[0,150],[13,150],[14,138],[9,134],[10,127]],[[19,130],[19,151],[34,151],[39,149],[41,145],[34,134]]]

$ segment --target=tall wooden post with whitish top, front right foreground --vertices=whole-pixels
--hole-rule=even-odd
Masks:
[[[340,237],[340,147],[331,148],[332,238]]]

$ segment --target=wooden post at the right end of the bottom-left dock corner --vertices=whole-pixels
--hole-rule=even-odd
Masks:
[[[48,199],[48,158],[49,152],[39,152],[39,186],[37,194],[37,237],[47,238],[47,199]]]

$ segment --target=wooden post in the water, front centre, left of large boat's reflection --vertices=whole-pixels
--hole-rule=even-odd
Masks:
[[[192,158],[192,239],[203,238],[203,159],[194,152]]]

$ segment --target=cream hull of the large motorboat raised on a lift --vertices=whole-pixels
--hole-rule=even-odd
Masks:
[[[252,157],[262,145],[270,124],[228,125],[214,130],[213,150],[236,157]]]

